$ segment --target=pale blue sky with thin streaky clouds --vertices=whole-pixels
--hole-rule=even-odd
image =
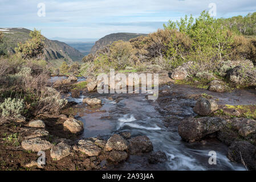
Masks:
[[[255,0],[0,0],[0,27],[36,28],[46,38],[99,39],[116,32],[148,34],[162,28],[169,19],[213,10],[210,3],[216,5],[216,18],[256,11]],[[38,5],[45,5],[45,16],[43,6]]]

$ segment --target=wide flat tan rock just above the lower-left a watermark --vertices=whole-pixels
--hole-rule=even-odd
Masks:
[[[48,142],[47,140],[43,140],[40,138],[32,138],[23,140],[21,143],[22,148],[29,151],[39,152],[50,149],[53,144]]]

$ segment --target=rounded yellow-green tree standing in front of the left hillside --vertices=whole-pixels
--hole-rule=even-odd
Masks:
[[[21,52],[22,57],[25,59],[36,58],[40,59],[43,55],[44,48],[44,36],[41,34],[41,31],[34,29],[30,32],[30,39],[26,43],[18,43],[18,47],[15,48],[15,51]]]

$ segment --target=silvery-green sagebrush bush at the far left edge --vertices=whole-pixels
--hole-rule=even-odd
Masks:
[[[24,101],[16,98],[6,98],[0,105],[3,118],[19,118],[24,109]]]

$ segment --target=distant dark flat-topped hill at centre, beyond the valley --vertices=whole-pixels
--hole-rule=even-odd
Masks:
[[[91,53],[95,53],[100,48],[107,46],[117,40],[124,40],[128,41],[130,39],[136,38],[138,36],[147,36],[147,34],[135,34],[135,33],[116,33],[116,34],[109,34],[104,36],[103,38],[97,40],[95,45],[91,49]]]

